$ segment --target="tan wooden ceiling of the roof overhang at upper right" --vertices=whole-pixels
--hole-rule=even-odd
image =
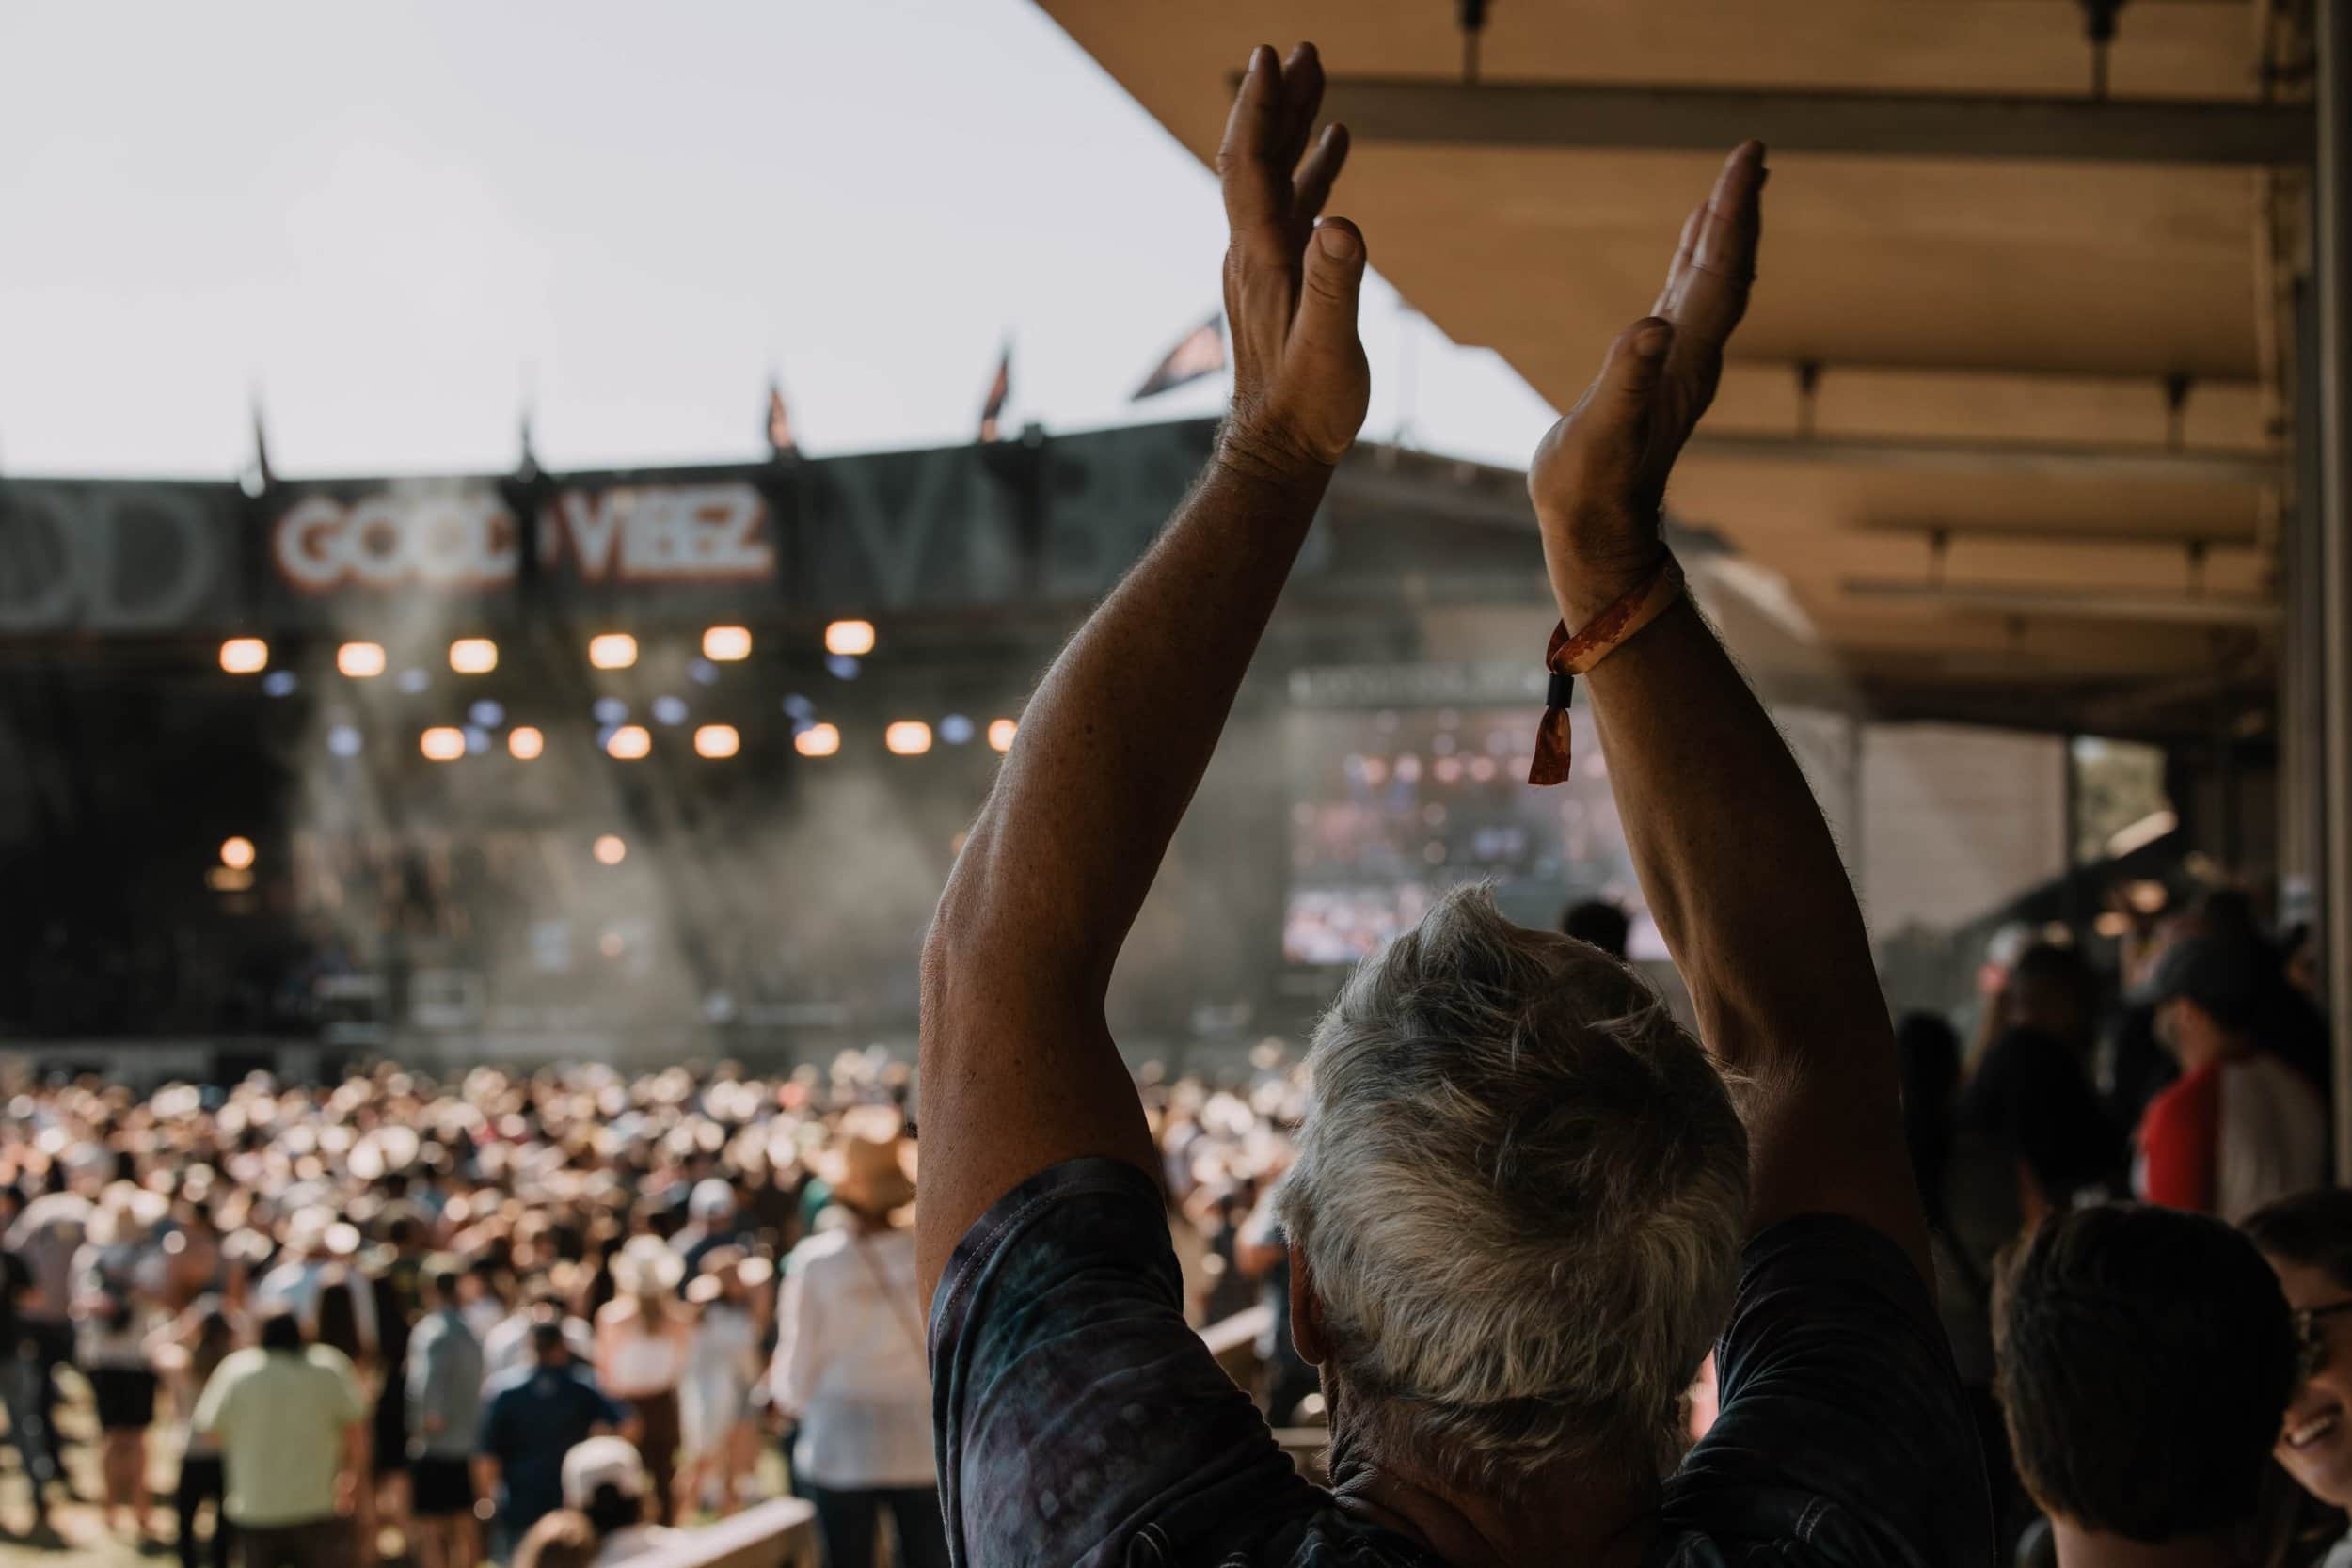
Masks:
[[[1463,71],[1454,0],[1040,5],[1202,160],[1256,42],[1312,38],[1334,78]],[[2272,9],[2126,5],[2110,87],[2253,101]],[[1479,71],[2086,96],[2091,47],[2070,0],[1494,0]],[[1566,407],[1649,308],[1715,162],[1359,139],[1338,207],[1439,329]],[[1771,165],[1755,310],[1670,496],[1679,522],[1785,583],[1799,614],[1776,616],[1788,644],[1766,656],[1910,712],[1983,717],[1990,691],[2034,722],[2249,722],[2213,708],[2260,708],[2272,679],[2303,176],[1867,153]]]

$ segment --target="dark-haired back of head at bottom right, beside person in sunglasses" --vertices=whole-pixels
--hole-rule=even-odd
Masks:
[[[2296,1335],[2239,1232],[2136,1204],[2060,1213],[2002,1260],[1994,1352],[2018,1474],[2051,1516],[2138,1542],[2253,1516]]]

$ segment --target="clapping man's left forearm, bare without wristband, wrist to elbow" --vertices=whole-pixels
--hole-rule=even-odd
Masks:
[[[948,879],[934,961],[1091,1006],[1216,750],[1329,468],[1218,461],[1047,672]]]

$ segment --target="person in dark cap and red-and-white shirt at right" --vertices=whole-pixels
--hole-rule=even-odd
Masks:
[[[2263,954],[2225,936],[2176,943],[2150,976],[2157,1037],[2180,1058],[2140,1119],[2133,1190],[2150,1204],[2234,1225],[2326,1182],[2326,1107],[2258,1037],[2263,983]]]

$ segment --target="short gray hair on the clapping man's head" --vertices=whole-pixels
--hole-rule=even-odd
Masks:
[[[1656,1479],[1722,1331],[1748,1131],[1698,1041],[1597,947],[1458,889],[1341,990],[1277,1194],[1343,1441],[1512,1493]]]

